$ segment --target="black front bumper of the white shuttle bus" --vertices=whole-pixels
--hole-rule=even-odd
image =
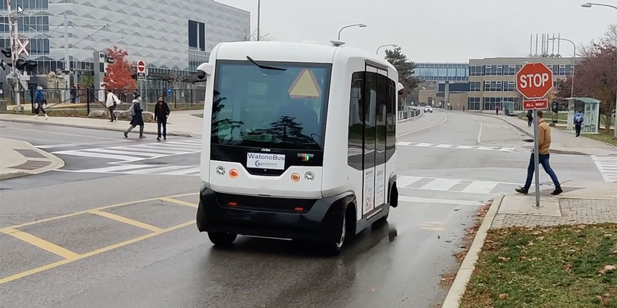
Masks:
[[[354,201],[350,192],[320,199],[295,199],[233,195],[204,187],[199,196],[197,229],[328,243],[336,240],[333,235],[337,222],[345,214],[346,206]]]

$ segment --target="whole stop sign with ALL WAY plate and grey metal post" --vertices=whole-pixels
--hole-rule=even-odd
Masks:
[[[538,113],[539,109],[549,107],[549,101],[542,99],[553,87],[553,71],[544,63],[526,63],[516,73],[516,90],[528,100],[523,100],[523,110],[534,111],[534,173],[536,182],[536,206],[540,206],[540,172],[538,150]]]

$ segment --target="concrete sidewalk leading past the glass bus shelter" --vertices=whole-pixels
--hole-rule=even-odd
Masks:
[[[519,118],[513,116],[505,116],[505,115],[487,115],[493,118],[500,119],[502,121],[507,122],[511,126],[514,126],[516,129],[519,129],[521,132],[524,132],[528,136],[533,136],[533,127],[527,126],[526,120],[521,120]],[[561,154],[579,154],[579,155],[596,155],[596,156],[609,156],[609,155],[617,155],[617,147],[613,145],[605,144],[603,142],[589,139],[589,138],[581,138],[574,137],[574,134],[569,132],[561,131],[558,128],[552,128],[552,142],[550,145],[551,153],[561,153]],[[531,150],[533,148],[533,143],[529,145],[524,145],[523,148],[528,148]]]

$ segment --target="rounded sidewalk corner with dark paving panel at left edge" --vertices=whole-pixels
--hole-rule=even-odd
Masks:
[[[28,142],[0,137],[0,180],[64,167],[64,161]]]

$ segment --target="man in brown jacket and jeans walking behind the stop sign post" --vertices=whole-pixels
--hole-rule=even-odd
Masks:
[[[563,192],[561,190],[561,185],[559,184],[559,180],[557,179],[557,174],[553,171],[553,168],[550,168],[549,164],[549,148],[550,148],[550,127],[547,124],[542,116],[544,113],[542,110],[538,110],[538,161],[544,167],[544,171],[549,174],[550,179],[553,180],[553,184],[555,184],[555,190],[551,193],[552,195],[559,195]],[[527,167],[527,180],[525,181],[525,185],[520,188],[516,188],[516,192],[519,193],[528,193],[529,187],[531,187],[531,180],[534,177],[535,171],[535,161],[534,161],[534,153],[531,153],[531,159],[529,160],[529,166]]]

